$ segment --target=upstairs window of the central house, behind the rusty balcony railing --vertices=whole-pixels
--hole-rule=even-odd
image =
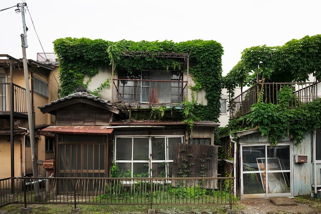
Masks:
[[[118,101],[135,103],[180,103],[183,101],[181,71],[118,71]]]

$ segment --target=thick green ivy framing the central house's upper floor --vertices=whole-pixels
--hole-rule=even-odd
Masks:
[[[217,121],[220,112],[220,93],[222,86],[222,46],[215,41],[193,40],[174,43],[172,41],[132,42],[122,40],[109,42],[90,40],[89,38],[59,38],[53,42],[54,51],[59,58],[60,96],[73,93],[78,85],[84,84],[84,77],[90,78],[98,73],[99,67],[133,70],[163,69],[184,70],[182,59],[164,57],[128,57],[124,51],[176,52],[189,54],[190,68],[195,86],[192,91],[205,90],[208,106],[199,106],[192,102],[188,108],[195,115],[191,120]],[[86,83],[88,84],[88,82]],[[98,87],[108,87],[108,84]],[[188,102],[185,102],[187,104]]]

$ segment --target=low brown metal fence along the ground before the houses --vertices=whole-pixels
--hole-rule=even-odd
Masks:
[[[14,193],[10,182],[14,179]],[[0,182],[0,207],[25,204],[232,205],[230,178],[8,178]],[[206,189],[206,182],[217,183]],[[39,185],[35,195],[34,185]]]

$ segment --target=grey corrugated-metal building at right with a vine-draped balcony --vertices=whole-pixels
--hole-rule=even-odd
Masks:
[[[258,85],[262,87],[262,84]],[[278,89],[284,85],[286,83],[265,83],[263,101],[276,101]],[[294,88],[295,99],[289,104],[292,108],[321,97],[321,83],[288,85]],[[238,118],[249,113],[251,105],[257,102],[256,94],[255,85],[237,96],[232,101],[232,117]],[[258,128],[235,133],[235,141],[233,137],[230,137],[232,140],[226,139],[226,147],[231,145],[230,158],[236,158],[234,170],[238,196],[242,199],[306,194],[316,196],[321,188],[320,133],[320,129],[306,133],[299,146],[295,146],[291,135],[279,139],[277,146],[272,146],[269,138],[263,137]]]

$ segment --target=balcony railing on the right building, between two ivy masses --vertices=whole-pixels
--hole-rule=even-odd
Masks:
[[[321,85],[318,83],[264,83],[260,81],[230,101],[230,118],[238,118],[251,112],[251,107],[258,101],[262,91],[263,102],[278,104],[280,89],[288,86],[292,91],[289,108],[296,108],[321,97]]]

